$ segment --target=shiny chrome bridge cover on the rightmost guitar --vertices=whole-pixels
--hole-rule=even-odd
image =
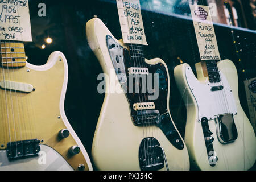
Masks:
[[[233,142],[237,139],[238,134],[233,114],[218,115],[215,122],[217,137],[221,143]]]

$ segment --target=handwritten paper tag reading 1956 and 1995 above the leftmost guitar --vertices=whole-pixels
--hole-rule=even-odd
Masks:
[[[32,41],[28,1],[0,0],[0,40]]]

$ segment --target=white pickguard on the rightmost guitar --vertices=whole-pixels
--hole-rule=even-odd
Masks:
[[[221,82],[210,83],[200,82],[197,80],[193,71],[189,65],[185,69],[186,79],[193,93],[197,106],[198,106],[198,121],[201,118],[207,117],[208,119],[214,119],[217,115],[232,113],[237,114],[236,102],[234,101],[232,89],[226,80],[225,75],[220,72]],[[218,91],[211,91],[212,86],[220,86],[224,88]]]

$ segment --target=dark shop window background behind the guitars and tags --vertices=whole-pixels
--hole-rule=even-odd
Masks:
[[[46,3],[46,17],[38,16],[38,4]],[[184,138],[186,110],[174,80],[174,67],[180,60],[195,69],[200,61],[195,31],[190,19],[154,12],[152,1],[142,1],[142,16],[147,43],[147,59],[160,57],[166,61],[171,78],[170,111]],[[29,1],[33,42],[25,44],[26,55],[31,64],[43,65],[53,51],[61,51],[67,58],[69,68],[68,88],[65,97],[65,113],[73,129],[84,144],[89,156],[94,130],[100,115],[104,94],[97,92],[98,74],[102,69],[88,46],[85,24],[94,15],[102,20],[117,39],[121,28],[117,6],[114,1]],[[247,7],[249,8],[249,7]],[[173,7],[175,14],[188,14],[188,4]],[[168,7],[163,7],[163,11]],[[185,16],[184,16],[185,17]],[[250,15],[248,19],[252,19]],[[255,28],[255,22],[249,24]],[[236,65],[239,78],[240,101],[249,117],[243,80],[253,78],[255,73],[255,31],[234,29],[233,35],[227,26],[214,26],[221,59],[230,59]],[[255,30],[255,29],[254,29]],[[53,39],[46,44],[44,39]],[[236,40],[236,44],[233,41]],[[240,44],[238,44],[240,43]],[[41,45],[46,44],[45,49]],[[236,53],[236,50],[239,50]],[[241,59],[241,61],[238,61]],[[242,72],[245,69],[245,72]],[[127,136],[129,137],[129,136]]]

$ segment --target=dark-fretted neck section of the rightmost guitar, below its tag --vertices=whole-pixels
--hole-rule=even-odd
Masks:
[[[201,61],[204,76],[209,78],[210,83],[220,82],[220,73],[217,66],[218,60],[204,60]]]

